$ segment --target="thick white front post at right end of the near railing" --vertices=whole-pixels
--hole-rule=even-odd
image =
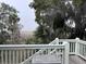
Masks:
[[[64,49],[64,64],[69,64],[69,54],[70,54],[70,43],[64,42],[65,49]]]

